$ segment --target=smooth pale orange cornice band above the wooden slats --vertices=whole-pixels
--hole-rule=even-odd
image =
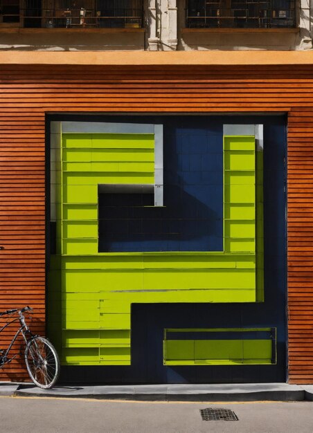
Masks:
[[[3,51],[0,64],[102,66],[313,65],[310,51]]]

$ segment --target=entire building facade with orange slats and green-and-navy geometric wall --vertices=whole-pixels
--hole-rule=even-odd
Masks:
[[[310,3],[0,5],[0,309],[67,383],[312,383]]]

